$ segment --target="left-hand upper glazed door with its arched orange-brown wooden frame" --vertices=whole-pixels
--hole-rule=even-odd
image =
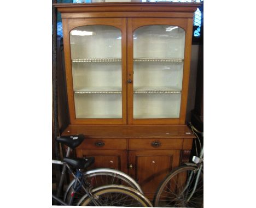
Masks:
[[[71,124],[126,124],[124,19],[63,19]]]

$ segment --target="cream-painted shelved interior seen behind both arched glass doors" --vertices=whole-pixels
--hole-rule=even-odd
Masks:
[[[83,26],[70,35],[72,59],[121,58],[121,32]],[[183,59],[185,32],[176,26],[135,30],[135,58]],[[121,62],[72,63],[74,91],[121,91]],[[134,90],[182,90],[183,62],[134,62]],[[181,93],[138,93],[134,118],[179,118]],[[74,94],[77,118],[122,118],[122,94]]]

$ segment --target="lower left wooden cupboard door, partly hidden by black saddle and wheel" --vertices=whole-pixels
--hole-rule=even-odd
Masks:
[[[127,173],[126,150],[77,150],[77,157],[95,157],[95,163],[88,169],[113,168]]]

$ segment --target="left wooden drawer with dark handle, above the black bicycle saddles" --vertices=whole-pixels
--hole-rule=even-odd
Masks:
[[[77,149],[126,150],[127,139],[84,139]]]

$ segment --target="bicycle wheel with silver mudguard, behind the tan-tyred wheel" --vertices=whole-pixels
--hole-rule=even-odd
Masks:
[[[75,180],[69,183],[69,186],[65,192],[64,201],[66,202],[68,202],[71,197],[72,186],[74,182]],[[120,172],[119,170],[114,170],[110,168],[98,168],[85,172],[84,182],[86,184],[90,184],[92,188],[111,184],[129,186],[135,188],[136,190],[143,194],[141,187],[129,175]],[[84,188],[80,187],[80,189],[74,195],[73,204],[76,204],[79,201],[79,199],[85,194],[86,192]]]

